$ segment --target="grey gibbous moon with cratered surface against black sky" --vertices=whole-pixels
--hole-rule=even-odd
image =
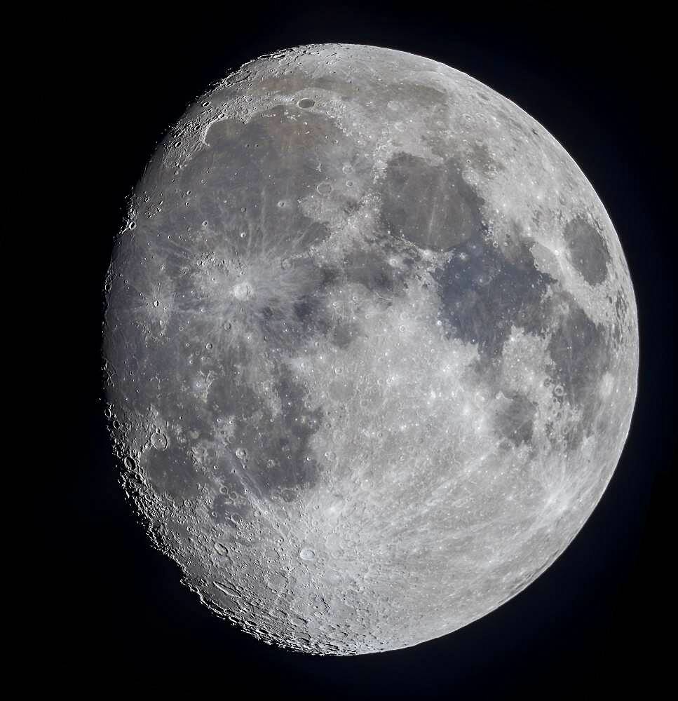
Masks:
[[[158,147],[106,280],[122,482],[205,605],[320,655],[523,590],[599,501],[635,298],[591,184],[450,67],[304,46]]]

